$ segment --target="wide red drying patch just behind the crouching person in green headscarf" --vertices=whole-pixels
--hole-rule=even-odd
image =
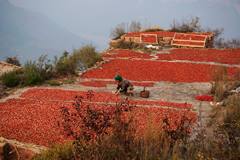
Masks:
[[[132,81],[209,82],[219,66],[207,64],[116,59],[82,75],[82,78],[112,79],[116,73]],[[234,75],[237,68],[228,68]]]

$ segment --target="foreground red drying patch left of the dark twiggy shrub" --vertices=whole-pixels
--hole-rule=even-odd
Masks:
[[[57,124],[63,104],[27,99],[0,103],[0,135],[41,145],[62,142],[64,137]]]

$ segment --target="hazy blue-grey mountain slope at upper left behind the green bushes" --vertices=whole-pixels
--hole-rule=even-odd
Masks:
[[[41,54],[52,57],[85,43],[86,40],[46,16],[0,0],[0,60],[16,55],[22,61],[36,59]]]

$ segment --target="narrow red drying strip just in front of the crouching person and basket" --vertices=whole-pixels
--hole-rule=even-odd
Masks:
[[[120,97],[116,96],[112,93],[99,93],[92,92],[94,95],[91,99],[92,102],[105,102],[105,103],[115,103],[120,101]],[[84,99],[87,99],[88,92],[79,92],[79,91],[67,91],[60,89],[29,89],[21,95],[23,99],[30,100],[40,100],[40,101],[73,101],[76,96],[83,96]],[[164,101],[142,101],[142,100],[130,100],[130,103],[133,105],[148,105],[148,106],[165,106],[165,107],[173,107],[173,108],[183,108],[190,109],[192,105],[186,103],[173,103],[173,102],[164,102]]]

